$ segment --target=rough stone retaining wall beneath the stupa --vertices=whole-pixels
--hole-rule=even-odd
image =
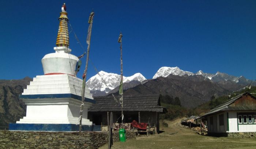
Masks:
[[[126,138],[136,138],[135,132],[127,131]],[[113,132],[113,141],[119,141]],[[98,149],[108,143],[108,132],[46,132],[46,131],[0,131],[1,149]]]

